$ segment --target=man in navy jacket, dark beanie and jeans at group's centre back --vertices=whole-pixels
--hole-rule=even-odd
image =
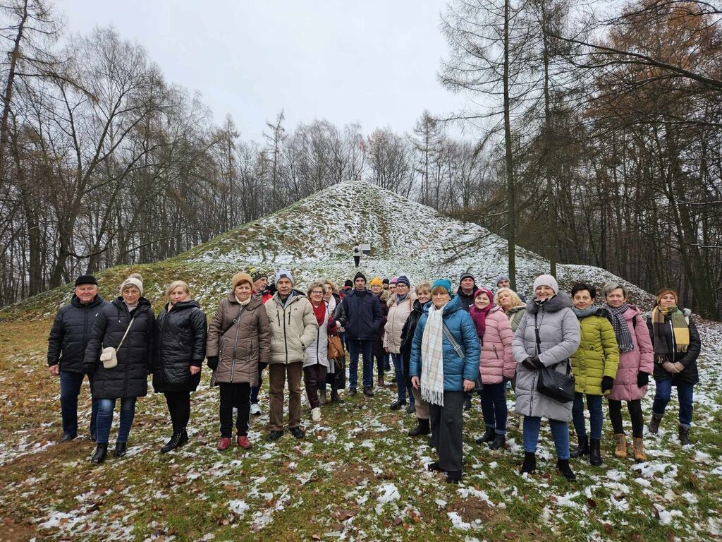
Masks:
[[[381,306],[378,297],[366,289],[366,278],[362,272],[354,277],[354,290],[348,293],[336,307],[334,317],[346,330],[349,348],[349,395],[356,395],[358,382],[359,353],[363,359],[363,392],[373,397],[373,340],[381,325]]]

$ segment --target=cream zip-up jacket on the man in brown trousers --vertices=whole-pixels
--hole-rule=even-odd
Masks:
[[[286,306],[279,293],[266,302],[271,324],[271,364],[293,364],[306,359],[305,350],[316,340],[316,317],[308,298],[294,291]]]

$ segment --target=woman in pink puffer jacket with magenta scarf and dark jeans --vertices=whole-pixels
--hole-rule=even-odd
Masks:
[[[490,442],[491,449],[499,449],[506,440],[505,379],[513,378],[516,363],[511,349],[514,334],[509,319],[500,306],[492,305],[493,298],[490,290],[479,288],[469,314],[482,344],[479,374],[482,377],[482,413],[487,429],[484,436],[477,439],[477,444]]]

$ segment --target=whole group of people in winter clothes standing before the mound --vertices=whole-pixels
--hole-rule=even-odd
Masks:
[[[641,398],[649,377],[656,395],[648,430],[656,434],[669,403],[671,388],[679,396],[679,439],[689,443],[693,387],[698,381],[700,337],[690,311],[679,307],[677,293],[664,288],[644,317],[628,304],[620,283],[607,283],[604,302],[594,304],[596,288],[577,283],[571,298],[551,275],[540,275],[528,302],[510,289],[508,276],[497,278],[495,291],[479,288],[473,275],[451,280],[422,280],[414,288],[408,277],[391,280],[357,272],[336,289],[329,280],[315,280],[306,291],[295,288],[289,270],[269,275],[251,270],[232,277],[230,291],[206,324],[206,315],[191,298],[188,284],[176,280],[166,290],[166,303],[155,316],[143,297],[143,279],[123,281],[119,296],[105,301],[97,280],[82,275],[71,302],[62,306],[48,340],[48,366],[59,375],[63,441],[78,434],[77,398],[87,374],[92,394],[92,463],[108,454],[110,426],[120,400],[120,423],[114,455],[121,457],[133,423],[137,397],[147,395],[148,375],[155,392],[165,395],[172,435],[160,452],[188,442],[191,392],[199,385],[206,360],[211,384],[219,388],[219,450],[235,442],[248,449],[250,416],[260,414],[258,392],[264,370],[269,378],[269,432],[266,440],[284,434],[284,393],[287,385],[287,428],[298,439],[303,377],[310,417],[321,421],[321,405],[342,403],[348,350],[347,397],[357,394],[362,363],[362,392],[373,397],[373,358],[377,384],[383,385],[393,363],[399,410],[408,398],[417,426],[409,436],[430,434],[438,452],[430,470],[461,479],[463,412],[474,393],[481,397],[485,431],[477,444],[503,449],[507,430],[507,390],[513,387],[516,413],[523,417],[522,473],[536,470],[541,418],[547,418],[557,451],[557,468],[565,478],[575,475],[570,457],[588,456],[601,464],[606,395],[614,431],[614,454],[627,457],[622,426],[622,401],[632,420],[632,454],[646,460]],[[390,366],[390,365],[388,365]],[[567,388],[560,396],[549,379]],[[546,382],[546,384],[545,384]],[[556,385],[556,384],[554,384]],[[327,395],[327,390],[331,395]],[[553,390],[552,390],[553,391]],[[584,401],[591,427],[587,436]],[[568,422],[578,438],[570,450]]]

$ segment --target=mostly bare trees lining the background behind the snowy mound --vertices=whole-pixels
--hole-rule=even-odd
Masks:
[[[676,0],[608,17],[573,8],[449,2],[439,78],[476,109],[424,111],[401,134],[290,127],[281,111],[254,142],[230,116],[215,125],[116,30],[65,35],[46,0],[0,4],[0,304],[368,180],[505,236],[512,271],[521,245],[552,273],[598,265],[649,290],[677,286],[720,317],[720,12]],[[452,136],[453,123],[478,135]]]

